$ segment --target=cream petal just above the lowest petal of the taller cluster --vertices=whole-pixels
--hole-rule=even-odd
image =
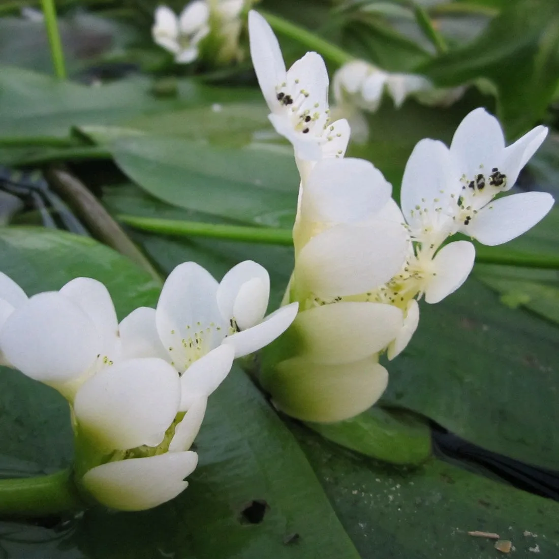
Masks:
[[[339,302],[300,312],[292,330],[297,352],[315,363],[360,361],[384,349],[402,329],[402,311],[392,305]]]

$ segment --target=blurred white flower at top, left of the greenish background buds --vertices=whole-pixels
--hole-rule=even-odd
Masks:
[[[178,63],[198,58],[198,43],[210,32],[210,8],[205,0],[194,0],[177,17],[167,6],[155,11],[153,40],[175,55]]]

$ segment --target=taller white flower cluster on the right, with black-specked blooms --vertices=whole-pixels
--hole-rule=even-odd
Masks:
[[[429,139],[415,146],[400,209],[380,171],[344,158],[349,126],[329,124],[321,57],[307,53],[286,74],[277,39],[255,12],[249,33],[269,119],[293,144],[301,172],[295,268],[283,301],[299,302],[299,314],[264,352],[259,380],[277,408],[296,418],[347,419],[386,389],[379,357],[386,352],[393,359],[409,343],[419,323],[418,300],[437,303],[470,274],[474,245],[449,237],[462,233],[498,245],[551,209],[547,193],[501,196],[547,129],[537,126],[506,147],[499,122],[482,108],[472,111],[450,148]],[[356,92],[364,78],[377,101],[385,85],[396,94],[386,76],[364,74],[352,86]]]

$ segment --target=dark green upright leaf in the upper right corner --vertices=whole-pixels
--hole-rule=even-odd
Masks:
[[[515,138],[541,120],[559,82],[559,9],[547,0],[511,0],[470,45],[416,69],[439,86],[478,78],[498,89],[498,115]]]

